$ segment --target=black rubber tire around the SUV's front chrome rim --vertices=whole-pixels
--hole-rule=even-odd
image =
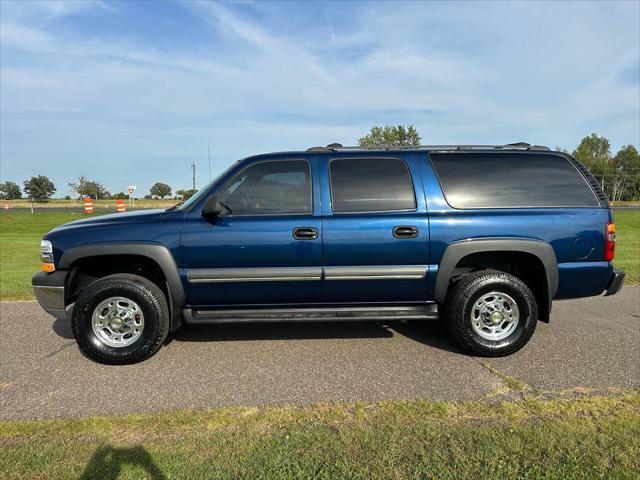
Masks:
[[[142,310],[144,328],[137,340],[130,345],[109,346],[93,331],[93,312],[109,297],[125,297],[137,303]],[[73,308],[71,328],[80,349],[96,362],[107,365],[141,362],[156,353],[167,338],[167,299],[155,283],[144,277],[131,274],[109,275],[96,280],[80,293]]]

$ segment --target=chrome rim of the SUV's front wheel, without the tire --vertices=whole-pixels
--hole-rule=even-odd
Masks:
[[[122,348],[135,342],[144,330],[144,314],[136,302],[125,297],[109,297],[91,316],[93,333],[105,345]]]

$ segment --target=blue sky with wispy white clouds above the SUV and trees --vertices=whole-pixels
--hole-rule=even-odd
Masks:
[[[2,180],[141,195],[414,124],[424,143],[640,143],[640,2],[1,2]]]

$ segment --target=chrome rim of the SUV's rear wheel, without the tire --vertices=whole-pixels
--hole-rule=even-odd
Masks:
[[[513,333],[520,322],[516,301],[503,292],[482,295],[471,309],[471,326],[486,340],[502,340]]]

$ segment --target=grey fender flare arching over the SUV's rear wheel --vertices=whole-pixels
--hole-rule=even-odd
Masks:
[[[483,252],[521,252],[537,257],[547,275],[548,301],[558,291],[558,261],[553,247],[542,240],[524,238],[469,238],[450,244],[442,255],[435,285],[435,300],[443,304],[449,288],[449,280],[456,265],[467,255]]]

